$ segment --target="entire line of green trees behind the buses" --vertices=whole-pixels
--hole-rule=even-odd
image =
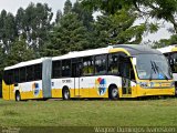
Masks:
[[[101,12],[95,18],[94,12]],[[54,17],[46,3],[30,3],[17,14],[0,12],[0,71],[7,65],[41,57],[54,57],[121,43],[140,43],[143,35],[158,30],[149,18],[173,24],[177,42],[176,0],[70,0]],[[54,18],[54,19],[53,19]],[[139,18],[146,21],[135,24]],[[164,40],[155,43],[160,47]]]

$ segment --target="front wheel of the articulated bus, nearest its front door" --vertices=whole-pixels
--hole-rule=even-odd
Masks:
[[[108,88],[108,99],[110,100],[117,100],[119,96],[118,96],[118,89],[116,85],[111,85]]]

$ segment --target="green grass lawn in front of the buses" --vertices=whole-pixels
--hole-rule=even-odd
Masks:
[[[177,99],[0,100],[0,126],[177,126]]]

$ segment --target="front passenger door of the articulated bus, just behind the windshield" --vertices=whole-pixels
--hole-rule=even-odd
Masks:
[[[122,94],[131,95],[132,86],[131,79],[133,76],[133,66],[129,58],[122,58],[122,63],[119,64],[119,71],[122,76]]]

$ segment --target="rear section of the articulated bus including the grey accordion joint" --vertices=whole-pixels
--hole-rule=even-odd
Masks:
[[[17,101],[51,98],[51,69],[50,58],[21,62],[6,68],[2,98]]]

